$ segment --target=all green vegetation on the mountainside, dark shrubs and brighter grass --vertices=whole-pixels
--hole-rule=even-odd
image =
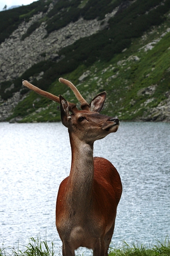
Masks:
[[[38,2],[45,10],[50,1],[46,5],[44,0],[34,3]],[[28,5],[28,12],[23,11],[20,19],[31,17],[32,12],[38,11],[36,6],[31,10]],[[125,0],[58,0],[42,20],[30,26],[22,39],[42,21],[46,21],[46,29],[50,33],[80,16],[102,20],[117,6],[119,11],[108,21],[106,29],[61,49],[57,60],[34,64],[17,79],[2,82],[0,96],[6,100],[18,91],[24,95],[28,90],[22,87],[22,79],[29,81],[32,77],[31,83],[35,86],[75,101],[73,93],[58,82],[59,77],[65,77],[78,85],[88,101],[95,94],[106,91],[104,114],[117,115],[121,120],[129,121],[147,116],[149,108],[167,99],[170,91],[170,32],[161,37],[170,28],[170,0],[165,0],[164,4],[160,0],[137,0],[131,5]],[[145,45],[151,42],[153,48],[146,51]],[[89,75],[79,81],[78,78],[86,71]],[[37,79],[41,72],[41,79]],[[60,120],[57,104],[34,93],[19,102],[8,120],[18,116],[22,118],[21,122]]]

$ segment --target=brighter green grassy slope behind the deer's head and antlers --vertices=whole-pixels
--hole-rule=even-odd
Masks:
[[[170,32],[154,44],[153,49],[139,50],[148,42],[159,38],[165,31],[165,26],[170,27],[170,20],[146,32],[145,39],[133,39],[131,46],[126,51],[115,55],[111,61],[107,63],[96,61],[88,66],[89,75],[81,83],[78,78],[87,71],[85,64],[78,65],[72,72],[64,75],[55,65],[50,68],[50,74],[49,70],[45,71],[45,67],[48,65],[42,64],[41,70],[44,68],[48,78],[44,81],[44,78],[38,81],[35,79],[32,83],[57,96],[61,94],[73,102],[76,102],[75,96],[70,89],[58,82],[60,76],[78,85],[78,90],[89,102],[98,93],[106,91],[107,100],[102,113],[111,116],[117,115],[121,120],[135,120],[144,113],[147,114],[148,107],[157,106],[166,99],[166,92],[170,91]],[[55,74],[52,68],[56,68]],[[29,70],[27,72],[29,73]],[[23,77],[27,79],[29,76],[30,73]],[[49,84],[47,84],[48,79],[50,79]],[[52,82],[52,79],[55,81]],[[149,87],[154,89],[153,92],[145,93],[145,89],[149,89]],[[35,103],[36,111],[41,110],[40,112],[36,113],[32,107],[33,103]],[[23,118],[21,122],[58,121],[60,112],[57,107],[57,103],[31,92],[23,101],[19,102],[10,118],[20,116]]]

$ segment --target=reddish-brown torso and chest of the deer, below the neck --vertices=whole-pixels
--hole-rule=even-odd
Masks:
[[[91,163],[93,166],[93,160]],[[82,171],[87,172],[87,168]],[[61,183],[56,204],[56,226],[63,242],[63,255],[74,255],[74,250],[81,246],[93,249],[94,256],[107,256],[121,197],[119,174],[108,160],[94,158],[94,170],[92,167],[86,177],[76,177],[78,186],[70,186],[71,180],[69,176]],[[74,192],[78,197],[74,198]],[[65,195],[69,197],[63,202]]]

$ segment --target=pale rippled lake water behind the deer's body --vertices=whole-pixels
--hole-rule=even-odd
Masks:
[[[110,160],[121,175],[112,246],[170,237],[170,124],[121,123],[95,142],[94,156]],[[40,234],[54,240],[56,253],[61,250],[55,202],[70,166],[69,135],[61,123],[0,123],[0,247],[26,246]]]

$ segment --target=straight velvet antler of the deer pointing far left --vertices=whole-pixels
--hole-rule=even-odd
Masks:
[[[42,95],[42,96],[44,96],[44,97],[46,97],[46,98],[49,98],[49,99],[51,99],[51,100],[53,100],[53,101],[56,101],[56,102],[58,102],[58,103],[60,104],[60,98],[59,98],[58,96],[55,96],[55,95],[50,94],[50,93],[48,93],[48,92],[46,92],[46,91],[43,91],[43,90],[41,90],[40,88],[38,88],[38,87],[36,87],[36,86],[30,84],[30,83],[29,83],[28,81],[26,81],[26,80],[23,80],[23,85],[24,85],[25,87],[27,87],[28,89],[34,91],[35,93],[37,93],[37,94],[39,94],[39,95]]]

